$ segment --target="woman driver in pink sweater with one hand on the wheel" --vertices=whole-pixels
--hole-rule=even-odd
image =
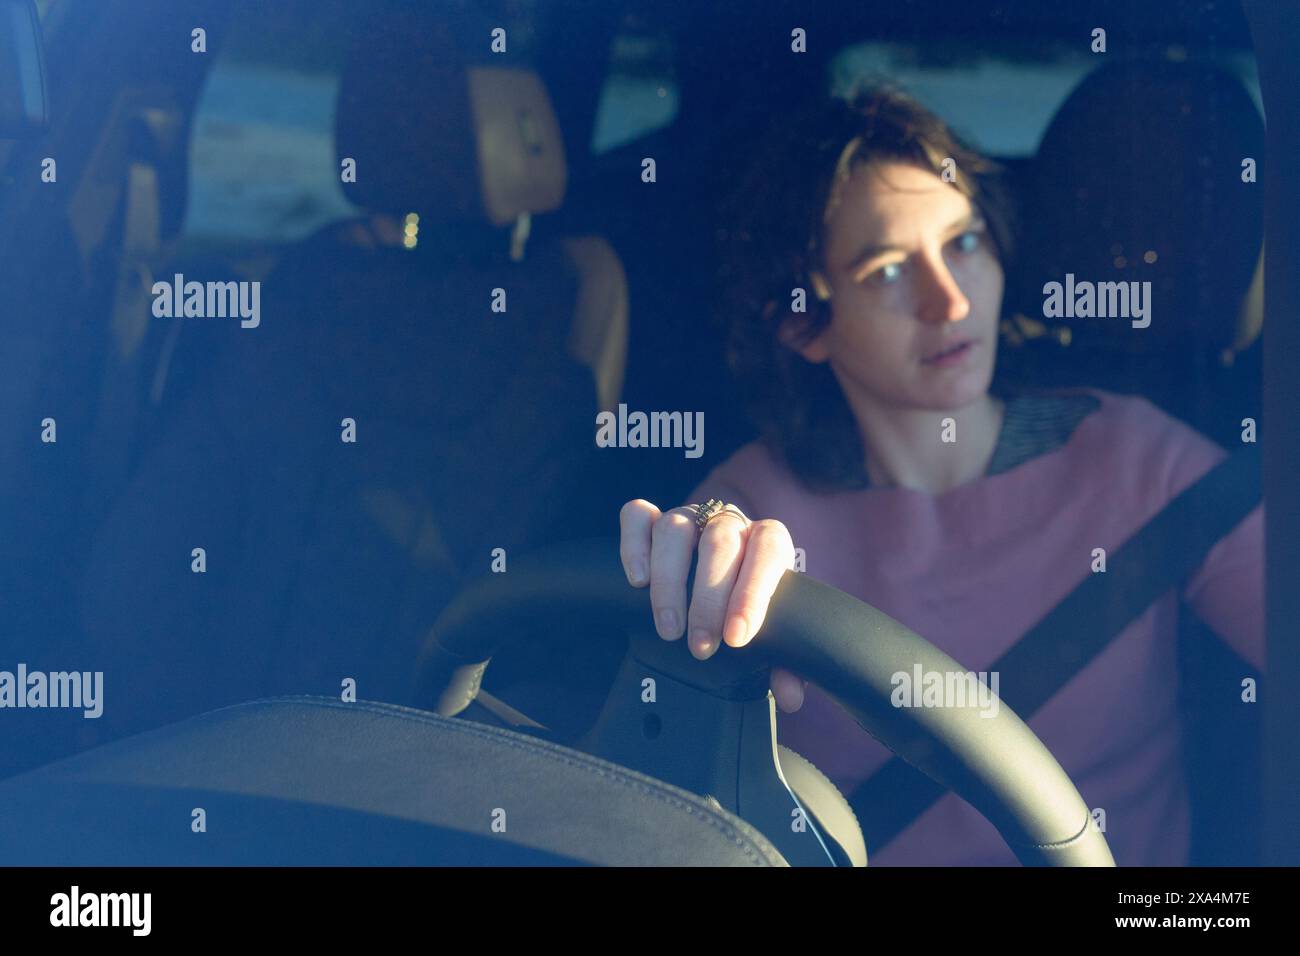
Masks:
[[[1113,553],[1225,453],[1141,398],[991,394],[1004,200],[992,164],[916,103],[867,92],[777,135],[740,183],[732,237],[728,362],[762,438],[689,496],[732,506],[703,532],[694,505],[623,506],[628,580],[649,585],[659,635],[688,635],[703,659],[754,639],[798,545],[807,574],[987,670],[1093,572],[1095,549]],[[1180,594],[1260,669],[1262,587],[1256,509]],[[1187,864],[1176,597],[1152,605],[1030,721],[1105,813],[1119,865]],[[1004,692],[1014,679],[1001,675]],[[772,692],[788,714],[781,743],[841,791],[890,756],[815,685],[774,671]],[[1015,862],[952,793],[871,851],[887,865]]]

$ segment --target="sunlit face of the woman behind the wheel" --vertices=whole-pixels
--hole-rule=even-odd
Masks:
[[[829,362],[850,403],[941,411],[988,392],[1002,268],[965,195],[906,163],[859,165],[840,185],[823,250],[832,319],[800,352]],[[930,360],[965,341],[956,358]]]

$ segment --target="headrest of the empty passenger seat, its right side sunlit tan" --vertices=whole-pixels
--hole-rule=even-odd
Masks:
[[[359,38],[338,95],[347,198],[370,212],[503,226],[564,200],[564,142],[540,77],[491,64],[486,29],[386,16]],[[478,62],[465,51],[482,48]]]

